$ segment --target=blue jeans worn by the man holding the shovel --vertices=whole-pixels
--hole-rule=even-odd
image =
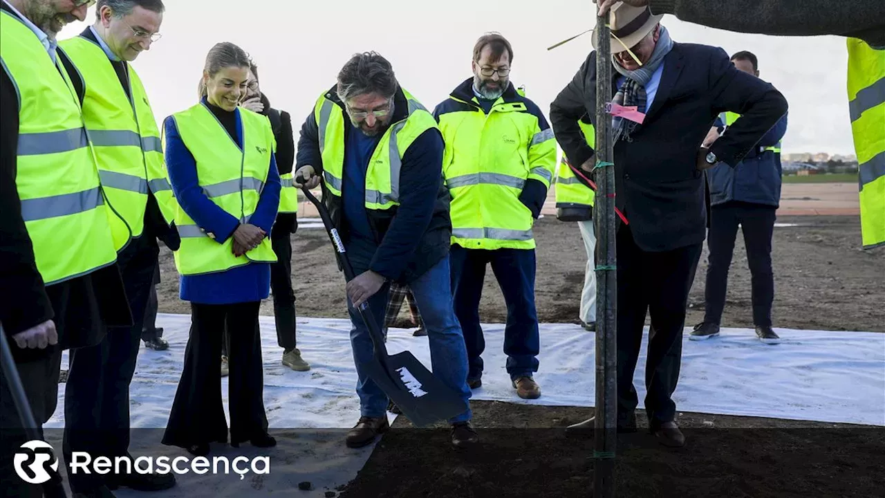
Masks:
[[[359,275],[366,268],[354,268]],[[444,385],[459,393],[464,400],[464,412],[450,419],[450,423],[465,422],[473,414],[470,411],[470,388],[467,387],[467,352],[461,325],[455,317],[450,291],[449,258],[436,263],[427,273],[409,283],[412,296],[418,305],[427,338],[430,341],[430,363],[434,376]],[[384,325],[387,311],[389,285],[369,298],[369,309],[379,333]],[[350,322],[350,346],[353,348],[353,361],[357,365],[357,394],[361,416],[384,416],[388,397],[374,381],[366,375],[364,366],[373,361],[372,338],[366,323],[359,316],[350,300],[347,301]]]

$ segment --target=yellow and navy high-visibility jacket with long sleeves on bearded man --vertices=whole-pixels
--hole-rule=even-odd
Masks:
[[[485,113],[463,82],[437,105],[445,140],[443,177],[451,194],[452,244],[467,249],[534,249],[532,209],[520,200],[527,183],[546,196],[556,167],[553,129],[512,83]],[[536,199],[543,205],[543,197]]]

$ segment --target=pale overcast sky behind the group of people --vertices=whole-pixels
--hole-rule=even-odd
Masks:
[[[590,0],[165,3],[163,38],[134,63],[158,122],[194,104],[206,52],[214,43],[233,42],[255,58],[262,90],[274,107],[292,114],[296,129],[357,51],[378,51],[388,58],[403,87],[432,109],[470,76],[473,43],[486,31],[498,31],[511,41],[511,80],[525,84],[527,97],[547,114],[550,101],[592,48],[589,34],[553,51],[546,48],[596,22],[596,5]],[[94,10],[89,11],[89,23]],[[760,77],[789,100],[784,153],[853,153],[843,38],[743,35],[673,16],[662,23],[676,42],[720,46],[728,54],[749,50],[758,56]],[[75,22],[59,39],[77,35],[86,26]]]

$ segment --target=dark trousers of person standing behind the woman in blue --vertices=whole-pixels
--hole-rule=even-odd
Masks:
[[[277,345],[284,351],[296,348],[295,291],[292,289],[292,241],[285,230],[271,231],[271,247],[277,261],[271,263],[271,293],[273,294],[273,322],[276,324]],[[230,338],[225,331],[221,354],[227,356]]]

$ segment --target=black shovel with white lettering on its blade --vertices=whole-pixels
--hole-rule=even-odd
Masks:
[[[299,175],[296,183],[304,184],[304,178]],[[344,271],[344,278],[350,282],[355,276],[353,268],[350,266],[347,254],[344,253],[341,237],[338,236],[338,230],[335,229],[326,206],[306,187],[303,186],[302,191],[304,196],[317,207],[319,217],[322,218],[332,245],[335,246],[335,255]],[[388,395],[390,401],[403,411],[412,424],[416,427],[426,427],[466,411],[467,407],[461,396],[434,377],[434,374],[427,370],[414,354],[408,351],[388,354],[381,329],[375,323],[366,302],[359,305],[357,311],[366,323],[369,337],[372,338],[373,361],[366,365],[366,373],[381,387],[381,391]]]

